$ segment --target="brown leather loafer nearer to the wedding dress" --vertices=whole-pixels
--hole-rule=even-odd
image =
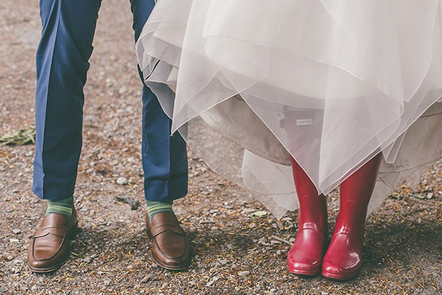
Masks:
[[[190,266],[190,244],[177,217],[173,213],[160,212],[152,217],[146,214],[148,234],[152,239],[152,257],[169,270],[183,270]]]

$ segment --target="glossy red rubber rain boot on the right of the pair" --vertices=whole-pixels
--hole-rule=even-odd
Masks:
[[[359,274],[366,212],[380,162],[381,154],[341,183],[336,227],[322,262],[322,275],[328,279],[347,280]]]

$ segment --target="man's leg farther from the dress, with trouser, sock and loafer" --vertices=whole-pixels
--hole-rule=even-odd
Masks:
[[[36,54],[34,193],[49,201],[31,240],[34,271],[52,271],[67,257],[76,228],[73,190],[81,152],[83,86],[101,0],[41,0],[43,31]]]

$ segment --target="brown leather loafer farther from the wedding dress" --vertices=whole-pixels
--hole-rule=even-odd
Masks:
[[[43,217],[29,244],[29,269],[34,272],[50,272],[58,269],[69,256],[68,240],[75,237],[77,229],[75,208],[69,224],[63,214],[52,213]]]

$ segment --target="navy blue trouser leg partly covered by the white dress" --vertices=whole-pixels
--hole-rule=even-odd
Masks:
[[[130,5],[136,41],[155,1],[130,0]],[[186,145],[178,133],[170,136],[170,127],[171,120],[157,97],[143,84],[142,157],[146,200],[170,202],[187,195]]]

